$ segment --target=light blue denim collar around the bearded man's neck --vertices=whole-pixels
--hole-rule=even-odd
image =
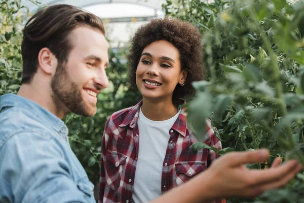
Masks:
[[[68,129],[61,119],[30,99],[17,94],[4,94],[0,96],[0,112],[8,107],[24,109],[30,114],[34,114],[37,120],[52,127],[60,134],[63,134],[64,136],[67,136],[68,134]]]

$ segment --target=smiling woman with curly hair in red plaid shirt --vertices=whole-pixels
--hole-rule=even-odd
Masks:
[[[197,142],[179,108],[202,80],[201,35],[177,19],[154,19],[131,42],[130,81],[142,100],[113,113],[102,139],[100,200],[145,202],[204,171],[217,155],[208,149],[192,154]],[[207,121],[205,143],[221,148]],[[219,201],[220,202],[220,201]]]

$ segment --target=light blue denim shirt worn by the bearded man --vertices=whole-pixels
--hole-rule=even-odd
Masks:
[[[29,99],[0,97],[0,202],[96,202],[68,129]]]

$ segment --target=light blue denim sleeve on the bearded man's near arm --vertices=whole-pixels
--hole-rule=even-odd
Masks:
[[[0,148],[0,202],[88,202],[60,145],[39,133],[15,134]]]

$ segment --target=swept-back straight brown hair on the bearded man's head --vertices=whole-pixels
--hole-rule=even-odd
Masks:
[[[70,5],[54,5],[35,13],[25,24],[21,45],[23,60],[22,83],[29,83],[37,71],[38,54],[49,48],[58,63],[67,61],[71,50],[69,33],[78,26],[90,26],[104,33],[97,16]]]

